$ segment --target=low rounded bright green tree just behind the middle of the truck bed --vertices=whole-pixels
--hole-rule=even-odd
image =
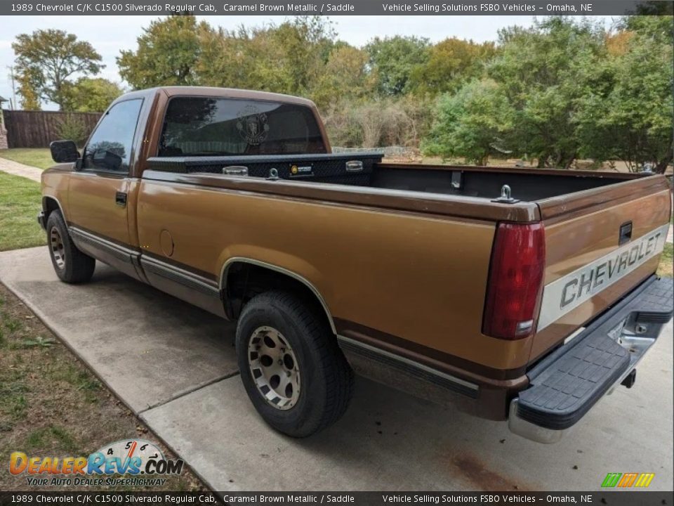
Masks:
[[[425,155],[465,157],[479,165],[513,127],[515,112],[501,86],[491,79],[465,84],[440,98],[435,122],[421,144]]]

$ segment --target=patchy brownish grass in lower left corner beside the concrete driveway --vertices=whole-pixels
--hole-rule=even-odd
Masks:
[[[46,252],[44,253],[46,255]],[[110,441],[140,437],[156,441],[145,424],[0,283],[0,455],[83,456]],[[158,443],[167,458],[176,455]],[[51,481],[52,476],[49,477]],[[112,477],[112,476],[111,476]],[[114,476],[118,478],[120,476]],[[158,491],[205,491],[189,469],[165,476]],[[0,472],[0,490],[26,490],[25,474]],[[31,486],[31,493],[53,487]],[[67,485],[59,490],[81,490]],[[150,491],[144,486],[92,486],[101,491]],[[3,502],[4,504],[4,502]]]

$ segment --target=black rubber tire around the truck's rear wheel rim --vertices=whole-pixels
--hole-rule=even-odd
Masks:
[[[249,352],[249,344],[255,342],[256,330],[267,327],[279,332],[296,357],[301,383],[298,398],[289,408],[278,408],[268,401],[253,378],[255,367],[249,355],[255,352]],[[283,434],[310,436],[339,420],[348,408],[353,371],[325,318],[291,293],[265,292],[244,306],[237,324],[237,358],[253,406],[267,424]]]

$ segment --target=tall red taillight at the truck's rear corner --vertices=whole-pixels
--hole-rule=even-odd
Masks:
[[[482,332],[522,339],[536,331],[546,266],[543,223],[500,223],[491,252]]]

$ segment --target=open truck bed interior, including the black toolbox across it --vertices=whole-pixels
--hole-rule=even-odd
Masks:
[[[223,174],[246,169],[246,176],[329,183],[366,188],[407,190],[441,195],[497,199],[508,185],[515,200],[534,201],[637,179],[642,174],[554,169],[513,169],[428,164],[383,163],[380,153],[357,155],[268,155],[246,157],[154,157],[150,169],[179,174]],[[355,163],[355,169],[348,164]],[[296,173],[293,174],[293,167]],[[360,167],[359,169],[357,169]]]

